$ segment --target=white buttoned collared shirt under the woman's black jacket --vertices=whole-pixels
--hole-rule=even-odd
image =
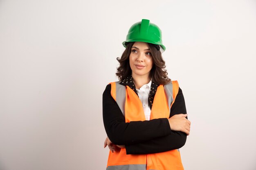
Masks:
[[[136,89],[139,95],[139,99],[143,106],[143,111],[144,111],[146,120],[150,120],[150,113],[151,113],[151,109],[148,105],[148,96],[150,93],[151,83],[152,81],[150,80],[148,84],[143,85],[142,87],[140,87],[140,89]]]

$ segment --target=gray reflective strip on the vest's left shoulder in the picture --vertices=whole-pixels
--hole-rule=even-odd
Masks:
[[[125,116],[125,99],[126,99],[126,86],[120,85],[120,81],[116,81],[116,102],[121,109],[123,115]]]

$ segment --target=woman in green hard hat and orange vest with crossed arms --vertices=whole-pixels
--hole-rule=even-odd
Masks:
[[[117,58],[119,82],[103,92],[103,122],[110,153],[107,170],[183,170],[179,148],[189,135],[182,90],[168,78],[162,32],[133,24]]]

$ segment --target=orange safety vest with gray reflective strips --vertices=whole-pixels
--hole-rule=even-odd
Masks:
[[[119,82],[111,84],[111,96],[125,116],[125,121],[146,120],[142,103],[137,94]],[[170,109],[179,91],[177,81],[159,85],[155,93],[150,120],[169,118]],[[125,93],[126,92],[126,93]],[[178,149],[162,153],[126,155],[126,149],[109,152],[107,170],[184,170]]]

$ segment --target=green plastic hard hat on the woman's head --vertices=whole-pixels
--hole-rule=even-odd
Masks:
[[[163,50],[166,49],[162,43],[162,31],[157,25],[150,23],[149,20],[142,19],[141,22],[133,24],[128,31],[123,46],[126,48],[128,42],[135,41],[157,44]]]

